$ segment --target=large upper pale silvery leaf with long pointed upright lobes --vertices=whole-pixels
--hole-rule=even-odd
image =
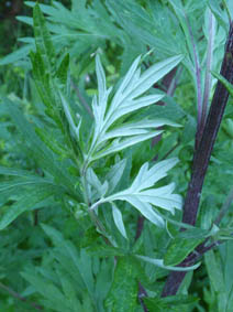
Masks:
[[[164,97],[162,94],[144,97],[142,97],[142,95],[147,92],[153,84],[177,66],[182,60],[182,56],[178,55],[159,62],[145,71],[142,75],[137,68],[140,60],[141,57],[137,57],[134,61],[115,92],[113,99],[107,105],[112,88],[107,89],[102,65],[99,56],[96,58],[99,96],[98,98],[95,96],[92,100],[95,131],[91,138],[90,149],[86,157],[87,166],[93,160],[121,151],[159,135],[162,131],[154,130],[157,125],[178,126],[165,119],[148,120],[146,118],[140,122],[134,121],[111,128],[120,118],[123,120],[129,112],[133,112],[160,100]],[[112,139],[114,140],[110,141]]]

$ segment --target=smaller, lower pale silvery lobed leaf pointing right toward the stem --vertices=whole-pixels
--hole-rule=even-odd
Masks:
[[[108,197],[102,197],[100,201],[92,204],[90,209],[95,209],[96,206],[107,202],[126,201],[138,209],[148,220],[163,227],[165,225],[163,216],[154,209],[153,206],[162,207],[174,214],[175,208],[181,208],[181,197],[177,194],[173,194],[175,189],[174,183],[158,189],[147,189],[165,177],[167,171],[170,170],[177,161],[177,159],[165,160],[156,163],[151,169],[148,169],[148,163],[143,164],[132,185],[127,190]]]

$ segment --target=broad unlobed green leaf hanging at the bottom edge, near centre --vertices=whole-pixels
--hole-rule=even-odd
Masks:
[[[106,300],[107,311],[135,311],[137,297],[137,281],[135,276],[136,272],[131,258],[118,258],[113,283]]]

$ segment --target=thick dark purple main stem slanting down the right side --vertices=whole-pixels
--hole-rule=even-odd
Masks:
[[[221,75],[226,80],[229,80],[229,83],[233,83],[233,23],[231,23],[225,44],[225,53],[222,62]],[[221,82],[218,82],[204,126],[203,136],[193,155],[192,175],[188,186],[182,215],[182,222],[189,225],[196,224],[204,176],[207,173],[213,144],[217,139],[219,127],[222,121],[228,98],[229,92],[225,89]],[[186,259],[184,261],[186,261]],[[181,266],[184,266],[184,262],[181,263]],[[169,273],[162,295],[167,297],[176,294],[185,276],[185,272]]]

